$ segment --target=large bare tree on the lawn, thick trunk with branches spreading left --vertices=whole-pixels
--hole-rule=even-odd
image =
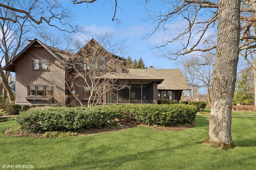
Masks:
[[[80,2],[95,2],[96,0],[81,0]],[[76,1],[73,1],[76,3]],[[116,1],[115,1],[116,2]],[[149,3],[150,1],[148,1]],[[162,2],[162,1],[161,1]],[[236,81],[236,68],[239,54],[240,40],[240,0],[168,0],[160,5],[155,2],[152,14],[149,16],[156,24],[152,34],[164,30],[168,34],[171,21],[181,18],[176,23],[176,34],[173,39],[164,40],[156,48],[163,49],[166,57],[173,58],[196,51],[209,51],[216,48],[216,62],[212,82],[212,110],[209,119],[209,133],[204,140],[215,147],[232,148],[234,143],[231,137],[232,98]],[[166,8],[163,8],[166,5]],[[208,29],[218,25],[217,46],[203,49],[200,43],[206,38]],[[152,35],[151,34],[151,35]],[[180,50],[169,51],[170,43],[180,42]],[[174,59],[176,58],[174,57]]]

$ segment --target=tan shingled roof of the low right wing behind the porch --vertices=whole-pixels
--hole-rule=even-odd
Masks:
[[[129,69],[130,75],[164,79],[158,90],[191,90],[180,69]]]

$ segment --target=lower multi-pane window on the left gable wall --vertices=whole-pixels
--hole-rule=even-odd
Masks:
[[[28,85],[28,96],[52,96],[52,86]]]

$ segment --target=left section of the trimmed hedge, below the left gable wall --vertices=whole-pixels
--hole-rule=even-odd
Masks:
[[[108,107],[48,107],[20,113],[16,120],[23,130],[31,132],[79,130],[82,128],[110,128],[123,115]]]

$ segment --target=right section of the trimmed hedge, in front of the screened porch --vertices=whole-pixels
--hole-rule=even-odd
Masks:
[[[122,114],[148,125],[185,125],[194,123],[197,109],[190,105],[112,105]],[[129,113],[129,114],[128,114]]]

